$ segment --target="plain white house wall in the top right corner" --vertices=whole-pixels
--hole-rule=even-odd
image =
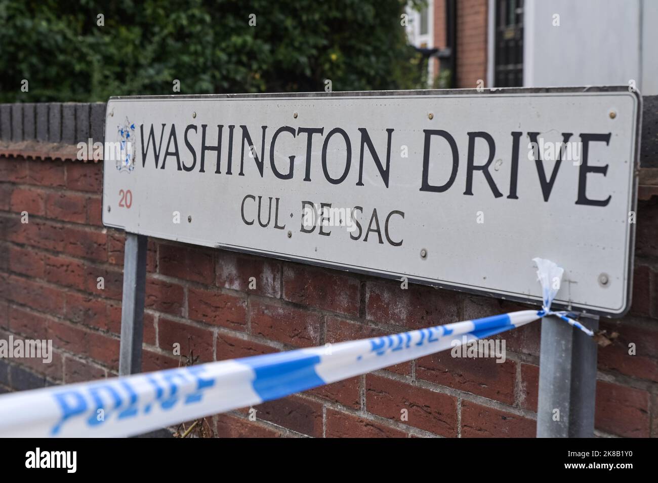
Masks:
[[[524,86],[634,82],[644,95],[655,95],[657,22],[655,1],[526,0]]]

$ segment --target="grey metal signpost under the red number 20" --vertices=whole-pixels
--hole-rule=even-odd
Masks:
[[[119,349],[120,376],[141,371],[147,241],[145,236],[126,233]]]

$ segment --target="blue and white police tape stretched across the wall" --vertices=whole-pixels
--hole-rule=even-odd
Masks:
[[[383,369],[528,324],[527,310],[310,349],[0,396],[0,436],[133,436]]]

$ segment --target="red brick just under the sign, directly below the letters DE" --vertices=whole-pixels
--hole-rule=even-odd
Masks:
[[[303,305],[347,315],[359,315],[361,282],[328,268],[285,263],[283,298]]]

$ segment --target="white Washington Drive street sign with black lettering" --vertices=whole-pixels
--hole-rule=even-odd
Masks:
[[[565,268],[554,307],[619,316],[640,103],[626,87],[112,97],[103,223],[532,303],[542,257]]]

